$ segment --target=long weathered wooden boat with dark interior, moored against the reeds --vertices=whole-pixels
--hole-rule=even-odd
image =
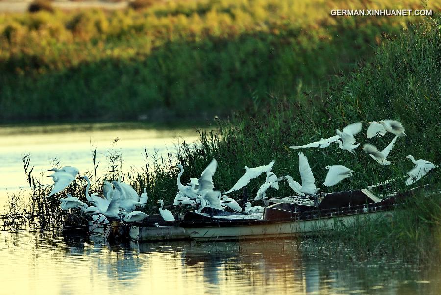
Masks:
[[[301,202],[270,205],[265,208],[261,219],[246,219],[244,215],[241,218],[237,214],[228,217],[189,212],[184,216],[181,227],[196,241],[310,235],[322,230],[332,230],[338,222],[351,225],[360,218],[382,218],[385,213],[420,189],[425,188],[407,191],[384,200],[368,190],[330,193],[319,206],[304,205]]]

